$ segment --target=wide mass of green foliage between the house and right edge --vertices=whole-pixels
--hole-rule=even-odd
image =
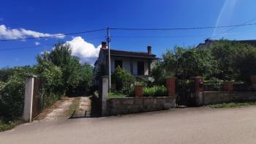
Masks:
[[[161,72],[162,71],[162,72]],[[162,75],[159,75],[161,72]],[[256,73],[256,48],[249,44],[221,39],[200,48],[167,50],[152,75],[158,85],[167,75],[177,78],[203,76],[206,80],[243,80]]]

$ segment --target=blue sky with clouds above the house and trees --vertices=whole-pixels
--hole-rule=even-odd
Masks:
[[[110,28],[186,28],[256,23],[255,0],[1,1],[0,39],[38,37]],[[236,29],[117,31],[111,48],[161,56],[174,46],[196,46],[204,39],[256,39],[255,26]],[[74,56],[93,63],[106,31],[72,36],[0,42],[0,67],[36,64],[35,57],[59,41],[75,47]],[[146,36],[146,38],[141,37]],[[162,37],[165,38],[149,38]],[[170,37],[169,37],[170,36]],[[186,36],[186,37],[185,37]],[[114,38],[116,37],[116,38]],[[119,37],[119,38],[117,38]],[[120,38],[122,37],[122,38]],[[124,38],[126,37],[126,38]],[[128,38],[127,38],[128,37]],[[140,38],[138,38],[140,37]]]

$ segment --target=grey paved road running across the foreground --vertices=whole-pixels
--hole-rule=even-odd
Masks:
[[[0,133],[0,143],[256,143],[256,107],[41,121]]]

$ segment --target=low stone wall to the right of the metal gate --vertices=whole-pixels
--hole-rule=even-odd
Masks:
[[[224,102],[250,102],[256,101],[256,92],[254,91],[204,91],[203,105],[211,105]]]

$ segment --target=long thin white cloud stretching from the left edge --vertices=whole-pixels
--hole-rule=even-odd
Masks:
[[[47,33],[41,33],[37,31],[31,31],[26,29],[10,29],[7,28],[4,25],[0,25],[0,38],[4,39],[23,39],[26,37],[51,37],[54,35],[60,35],[60,34],[47,34]],[[56,36],[56,38],[63,39],[65,36]]]

